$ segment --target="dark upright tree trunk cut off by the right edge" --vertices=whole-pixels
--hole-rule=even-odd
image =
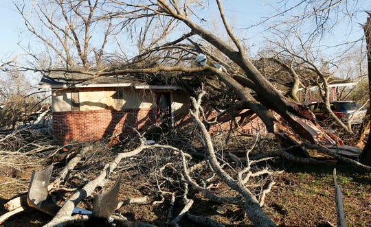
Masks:
[[[368,13],[367,23],[363,26],[366,37],[366,47],[367,47],[367,63],[368,63],[368,93],[371,97],[371,14]],[[368,116],[370,118],[371,105],[368,106]],[[371,119],[369,119],[371,120]],[[360,156],[361,163],[365,165],[371,165],[371,136],[368,135],[368,140],[363,147],[363,152]]]

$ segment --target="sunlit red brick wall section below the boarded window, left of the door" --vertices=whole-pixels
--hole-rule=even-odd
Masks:
[[[141,131],[154,121],[152,109],[53,112],[54,135],[71,141],[98,141],[118,132],[126,136],[133,133],[131,127]]]

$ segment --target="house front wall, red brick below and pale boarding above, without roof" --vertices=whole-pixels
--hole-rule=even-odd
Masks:
[[[67,141],[97,141],[117,133],[133,134],[131,127],[145,130],[157,122],[155,92],[131,87],[55,90],[54,135]],[[188,108],[188,93],[172,91],[175,115],[187,113]]]

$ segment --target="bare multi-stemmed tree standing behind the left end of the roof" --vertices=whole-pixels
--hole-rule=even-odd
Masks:
[[[95,64],[101,65],[107,37],[111,33],[111,21],[96,18],[96,11],[100,9],[101,4],[99,1],[34,1],[30,4],[17,5],[17,9],[23,16],[27,30],[41,40],[47,50],[52,50],[60,60],[63,60],[58,62],[59,64],[65,63],[66,67],[71,67],[79,62],[82,67],[87,68],[91,66],[89,56],[92,53]],[[35,18],[36,21],[33,21]],[[91,47],[91,38],[94,34],[92,27],[97,26],[97,23],[104,23],[105,25],[100,27],[106,30],[104,35],[100,36],[100,42],[95,44],[98,46],[95,49]]]

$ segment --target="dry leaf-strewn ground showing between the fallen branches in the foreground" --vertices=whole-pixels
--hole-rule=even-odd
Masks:
[[[277,168],[284,172],[279,174],[271,193],[267,195],[264,209],[278,226],[330,226],[336,224],[333,168],[337,168],[338,184],[343,189],[344,211],[348,226],[371,226],[371,174],[356,171],[347,165],[313,165],[301,166],[280,163]],[[31,169],[1,169],[0,176],[0,213],[5,213],[3,204],[19,193],[27,190]],[[133,222],[146,222],[156,226],[166,226],[169,200],[161,200],[157,193],[146,187],[143,176],[127,172],[122,176],[119,200],[148,197],[147,204],[128,204],[122,206],[117,214]],[[201,193],[190,192],[194,205],[190,214],[209,217],[225,226],[251,226],[251,222],[242,208],[234,205],[216,204],[207,201]],[[175,204],[175,214],[181,211],[181,204]],[[32,208],[19,215],[14,215],[1,226],[43,226],[51,217]],[[83,226],[83,225],[80,225]],[[91,226],[85,225],[85,226]],[[120,226],[120,225],[117,225]],[[183,226],[198,226],[187,217]]]

